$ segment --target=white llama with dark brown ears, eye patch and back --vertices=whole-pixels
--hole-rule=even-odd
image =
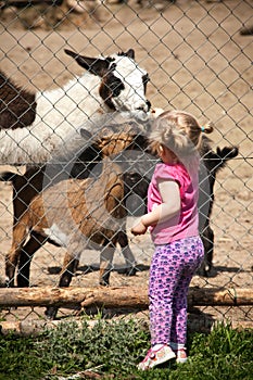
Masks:
[[[147,117],[149,76],[135,62],[132,49],[107,58],[65,53],[86,72],[63,88],[33,93],[0,72],[0,165],[47,163],[73,129],[102,114]]]

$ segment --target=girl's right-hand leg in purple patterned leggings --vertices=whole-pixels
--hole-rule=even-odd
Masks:
[[[175,289],[172,318],[170,341],[173,349],[184,347],[187,341],[187,295],[190,281],[200,266],[204,250],[199,237],[181,240],[180,257],[181,267],[180,276]]]

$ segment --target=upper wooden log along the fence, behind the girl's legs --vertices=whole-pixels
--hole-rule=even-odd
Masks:
[[[188,304],[189,306],[253,305],[253,290],[190,288]],[[146,288],[134,287],[0,289],[0,307],[50,305],[147,308],[149,299]]]

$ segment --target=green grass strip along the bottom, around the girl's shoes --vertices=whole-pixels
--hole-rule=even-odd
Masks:
[[[189,360],[169,362],[146,372],[136,365],[149,349],[149,331],[130,321],[63,322],[38,337],[0,335],[0,380],[56,380],[84,370],[102,379],[252,380],[253,330],[218,325],[211,333],[189,337]],[[83,377],[84,379],[84,377]]]

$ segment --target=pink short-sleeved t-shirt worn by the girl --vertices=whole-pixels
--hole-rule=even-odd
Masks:
[[[194,237],[199,235],[199,178],[198,162],[192,162],[187,172],[181,163],[176,164],[157,164],[148,190],[148,212],[163,203],[159,187],[159,179],[172,179],[179,186],[181,208],[178,215],[150,227],[150,232],[154,244],[167,244],[175,240]]]

